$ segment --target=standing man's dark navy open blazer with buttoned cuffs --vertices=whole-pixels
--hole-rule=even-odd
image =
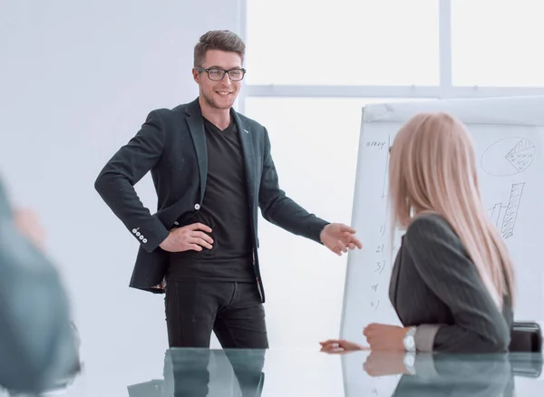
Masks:
[[[254,268],[261,294],[264,289],[257,257],[257,208],[263,218],[287,231],[320,243],[328,223],[300,207],[279,188],[270,154],[267,129],[231,110],[236,121],[248,180],[249,215]],[[161,293],[169,253],[160,243],[174,226],[184,226],[200,209],[208,174],[206,136],[199,99],[176,108],[151,111],[141,130],[104,166],[95,189],[140,243],[130,286]],[[157,191],[157,212],[151,215],[133,186],[151,170]]]

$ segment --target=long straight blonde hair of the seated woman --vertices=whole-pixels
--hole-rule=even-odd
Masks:
[[[513,302],[510,256],[481,200],[471,135],[461,121],[440,112],[415,115],[397,133],[389,167],[393,228],[408,228],[424,212],[441,215],[496,304],[504,295]]]

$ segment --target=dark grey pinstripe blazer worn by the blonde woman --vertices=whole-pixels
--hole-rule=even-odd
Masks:
[[[460,238],[439,215],[421,215],[406,230],[389,297],[403,325],[417,326],[420,352],[508,351],[510,298],[501,313]]]

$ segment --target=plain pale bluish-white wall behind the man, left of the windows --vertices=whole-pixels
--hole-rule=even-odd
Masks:
[[[198,95],[193,46],[209,29],[238,32],[238,7],[238,0],[0,1],[0,172],[13,199],[36,208],[48,230],[88,369],[158,357],[156,374],[134,365],[125,384],[161,375],[163,295],[128,287],[138,243],[93,182],[151,109]],[[154,212],[149,176],[138,190]]]

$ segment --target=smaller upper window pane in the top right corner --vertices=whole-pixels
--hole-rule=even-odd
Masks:
[[[454,85],[544,86],[542,0],[453,0]]]

